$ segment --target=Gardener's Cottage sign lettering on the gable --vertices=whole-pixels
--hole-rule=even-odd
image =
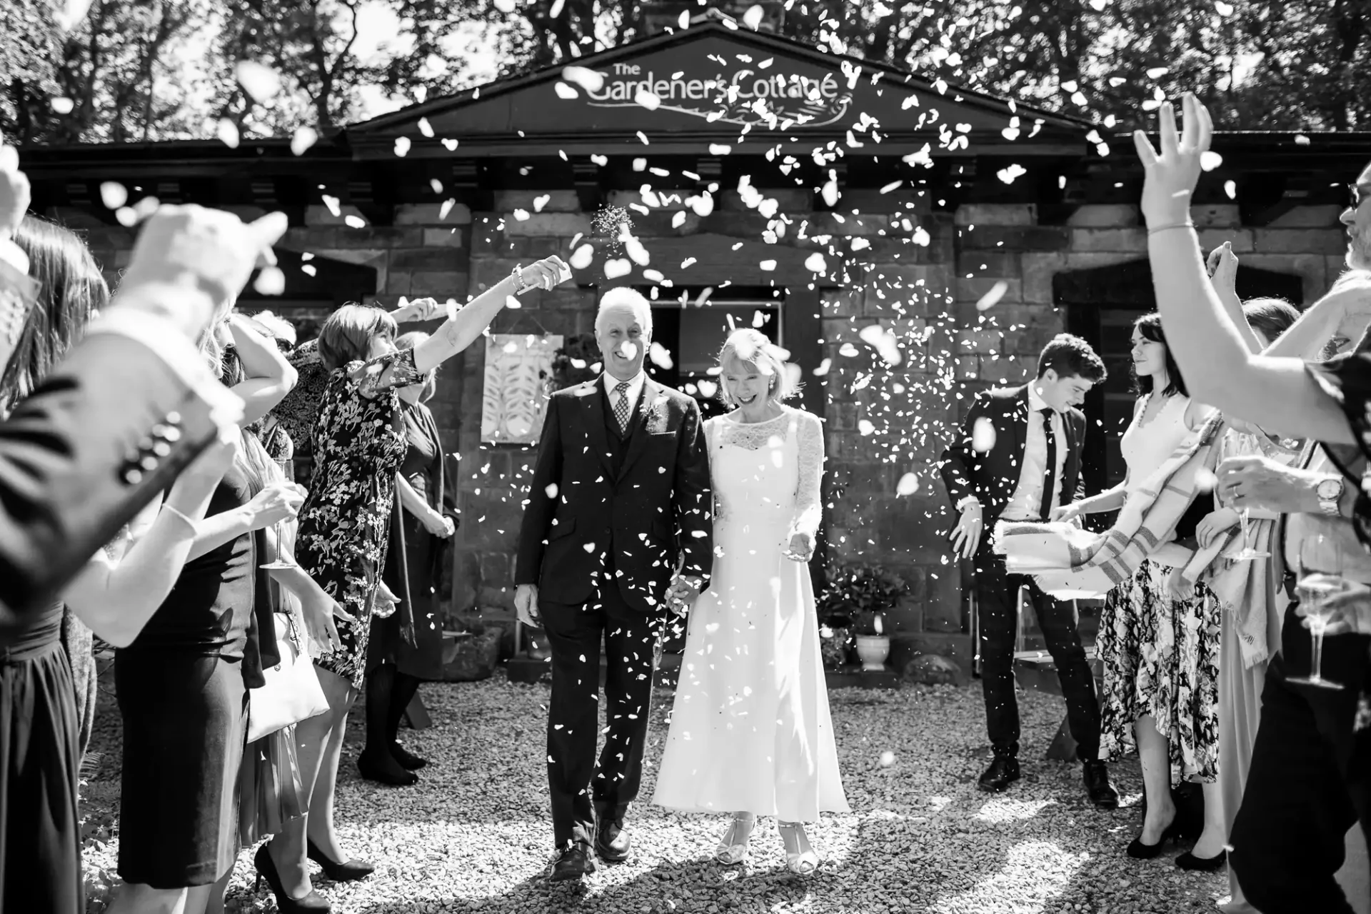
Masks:
[[[720,60],[710,55],[710,60]],[[771,63],[771,62],[768,62]],[[699,75],[686,70],[657,73],[642,64],[616,63],[600,85],[584,85],[592,108],[675,111],[738,126],[821,127],[842,121],[851,93],[832,73],[768,73],[764,64]]]

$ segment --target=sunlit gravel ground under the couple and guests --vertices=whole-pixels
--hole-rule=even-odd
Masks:
[[[1042,761],[1061,721],[1061,699],[1024,695],[1024,778],[1008,793],[976,791],[984,765],[979,685],[840,689],[831,693],[850,815],[825,817],[814,835],[823,869],[808,880],[784,869],[775,822],[753,840],[746,867],[710,862],[724,821],[639,804],[631,818],[635,856],[600,869],[580,889],[550,888],[551,856],[543,728],[548,687],[425,685],[435,726],[407,732],[433,765],[414,788],[356,777],[359,715],[344,751],[339,821],[352,855],[373,861],[363,882],[315,884],[339,913],[584,911],[1213,911],[1227,880],[1178,870],[1175,851],[1137,862],[1123,850],[1138,829],[1137,761],[1115,766],[1124,807],[1094,810],[1075,765]],[[670,692],[658,691],[643,796],[661,755]],[[95,737],[106,752],[85,788],[85,813],[112,821],[118,806],[118,714],[101,708]],[[894,759],[887,754],[893,754]],[[883,765],[887,762],[888,765]],[[112,870],[117,837],[86,855],[92,882]],[[274,911],[252,892],[244,851],[228,910]],[[92,909],[99,909],[99,902]]]

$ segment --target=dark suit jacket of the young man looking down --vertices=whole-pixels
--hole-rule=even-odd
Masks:
[[[1086,414],[1071,408],[1061,414],[1067,437],[1067,460],[1061,469],[1061,504],[1084,497],[1080,478],[1080,445],[1086,440]],[[984,454],[972,445],[978,422],[986,421],[994,429],[994,443]],[[986,432],[982,437],[990,437]],[[968,495],[980,502],[986,529],[995,525],[1019,488],[1019,473],[1024,465],[1028,440],[1028,385],[982,391],[971,403],[971,411],[960,434],[943,451],[939,471],[947,495],[957,504]],[[984,443],[978,441],[984,447]]]

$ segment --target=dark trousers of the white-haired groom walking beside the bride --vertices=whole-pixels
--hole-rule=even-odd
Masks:
[[[617,588],[603,589],[603,599],[592,597],[584,606],[539,603],[553,652],[547,784],[558,848],[573,841],[590,844],[596,810],[600,818],[621,821],[628,804],[638,799],[643,776],[658,618],[629,608]],[[609,733],[596,771],[600,637],[607,662]]]

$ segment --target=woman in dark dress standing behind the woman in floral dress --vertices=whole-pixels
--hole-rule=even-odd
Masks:
[[[413,349],[426,333],[406,333],[398,349]],[[396,477],[391,548],[384,581],[399,599],[387,618],[372,619],[366,673],[366,747],[356,759],[362,777],[403,787],[428,765],[399,743],[400,719],[420,682],[443,678],[443,617],[437,600],[443,540],[455,530],[443,508],[443,441],[424,406],[437,386],[436,371],[399,389],[406,451]]]

